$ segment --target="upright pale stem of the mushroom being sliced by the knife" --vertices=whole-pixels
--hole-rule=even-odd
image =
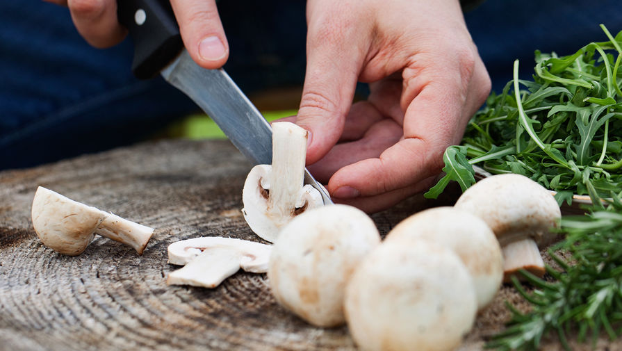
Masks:
[[[296,206],[302,206],[300,189],[304,184],[306,138],[309,132],[289,122],[272,124],[272,172],[268,215],[291,218]]]

